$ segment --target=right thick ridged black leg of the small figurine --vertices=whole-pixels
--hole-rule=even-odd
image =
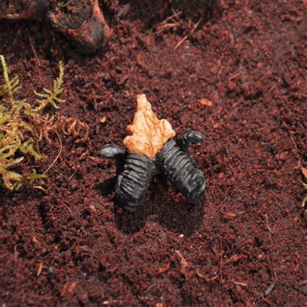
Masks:
[[[161,170],[167,180],[192,202],[198,202],[206,188],[204,173],[189,153],[183,152],[173,140],[167,141],[159,153]]]

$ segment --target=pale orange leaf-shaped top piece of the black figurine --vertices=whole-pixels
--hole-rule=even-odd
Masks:
[[[142,153],[153,159],[167,140],[172,139],[175,131],[166,119],[158,119],[151,110],[145,94],[137,96],[138,112],[133,125],[128,125],[130,136],[125,137],[124,145],[129,150]]]

